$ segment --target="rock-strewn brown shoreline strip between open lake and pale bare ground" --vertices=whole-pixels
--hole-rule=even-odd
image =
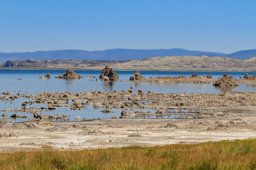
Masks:
[[[163,116],[167,114],[170,110],[177,110],[181,112],[182,110],[197,111],[196,113],[210,114],[211,112],[216,112],[216,109],[221,112],[231,112],[231,111],[246,111],[253,112],[256,111],[256,92],[225,92],[221,94],[188,94],[186,92],[182,94],[162,94],[156,92],[142,92],[139,90],[135,91],[114,91],[114,92],[101,92],[101,91],[88,91],[85,93],[58,93],[58,92],[43,92],[38,95],[26,95],[18,94],[12,95],[7,92],[1,93],[7,94],[0,96],[1,101],[14,101],[20,97],[30,99],[30,101],[24,101],[20,108],[15,109],[1,109],[1,112],[16,112],[16,113],[32,113],[35,117],[38,117],[40,113],[52,111],[58,107],[70,108],[71,110],[80,110],[86,108],[87,105],[93,105],[94,109],[99,107],[106,109],[106,112],[110,112],[110,109],[122,109],[123,115],[126,109],[154,109],[155,113],[143,113],[139,112],[141,116],[144,117],[150,115]],[[72,100],[72,104],[69,101]],[[47,104],[48,107],[34,108],[29,105],[35,103]],[[122,114],[121,113],[121,114]],[[207,113],[207,114],[206,114]],[[130,113],[132,115],[136,113]],[[48,116],[39,120],[47,120]],[[199,114],[197,114],[199,115]],[[127,118],[122,116],[122,118]],[[131,117],[131,116],[130,116]],[[54,119],[54,118],[52,118]],[[38,119],[34,118],[36,121]]]

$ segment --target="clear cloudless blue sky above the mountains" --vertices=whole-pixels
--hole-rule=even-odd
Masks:
[[[256,1],[0,1],[0,52],[256,49]]]

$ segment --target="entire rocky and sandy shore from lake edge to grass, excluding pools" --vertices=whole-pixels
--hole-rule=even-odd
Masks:
[[[92,104],[96,108],[121,108],[124,112],[121,113],[121,118],[76,122],[52,120],[52,125],[47,122],[38,125],[48,121],[43,119],[44,116],[41,120],[34,118],[30,122],[20,123],[1,119],[1,152],[40,150],[44,147],[56,150],[88,149],[256,138],[256,92],[159,94],[139,91],[133,94],[133,91],[128,90],[84,94],[46,92],[14,96],[16,95],[9,94],[9,99],[28,97],[31,98],[30,103],[48,103],[51,108],[63,107],[65,101],[72,100],[72,105],[64,104],[64,107],[82,109],[85,105]],[[28,108],[28,105],[29,103],[16,109],[16,113],[49,109]],[[146,119],[143,118],[146,113],[130,112],[130,109],[155,109],[155,113],[147,114],[159,117],[179,113],[184,116]],[[187,111],[193,114],[185,114]],[[140,118],[130,118],[136,114]]]

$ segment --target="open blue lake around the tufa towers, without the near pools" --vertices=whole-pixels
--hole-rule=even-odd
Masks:
[[[129,80],[135,71],[115,71],[119,74],[119,80]],[[51,79],[38,79],[47,73]],[[86,91],[121,91],[133,87],[135,90],[163,92],[163,93],[220,93],[227,89],[213,87],[212,84],[185,84],[185,83],[146,83],[146,82],[102,82],[95,78],[86,78],[88,75],[100,75],[101,70],[75,70],[84,78],[76,80],[55,79],[56,75],[65,73],[65,70],[0,70],[0,92],[9,91],[12,94],[39,94],[40,92],[86,92]],[[196,73],[199,76],[212,73],[213,78],[221,77],[224,73],[236,78],[243,77],[245,73],[256,75],[256,72],[222,72],[222,71],[140,71],[145,78],[158,76],[191,76]],[[22,80],[18,80],[22,78]],[[92,79],[92,80],[90,80]],[[230,91],[255,91],[255,86],[240,84],[238,87],[228,89]]]

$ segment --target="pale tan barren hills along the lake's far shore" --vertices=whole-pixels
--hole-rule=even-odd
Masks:
[[[17,60],[2,63],[2,69],[98,69],[110,65],[118,70],[227,70],[255,71],[256,57],[236,59],[207,56],[167,56],[151,57],[139,60]]]

